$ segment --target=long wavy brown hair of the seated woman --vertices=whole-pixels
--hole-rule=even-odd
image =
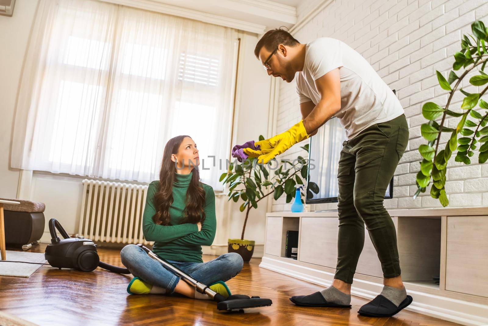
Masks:
[[[156,224],[169,224],[169,206],[173,203],[172,190],[176,173],[175,162],[171,160],[171,154],[178,153],[178,149],[180,148],[184,137],[190,136],[182,135],[173,137],[164,147],[161,172],[159,173],[159,189],[154,195],[156,214],[153,216],[153,220]],[[203,222],[205,219],[205,212],[203,211],[203,206],[205,205],[205,190],[200,184],[200,172],[198,166],[195,166],[190,173],[192,176],[186,192],[183,214],[186,217],[187,223]]]

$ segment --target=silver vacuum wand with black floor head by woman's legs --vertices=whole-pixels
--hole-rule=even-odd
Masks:
[[[174,274],[181,277],[186,283],[189,283],[196,287],[197,291],[200,293],[204,293],[208,295],[210,298],[213,299],[217,303],[217,309],[219,310],[238,310],[243,311],[245,308],[256,308],[256,307],[264,307],[273,304],[271,299],[263,299],[258,296],[249,297],[244,294],[233,294],[224,298],[222,294],[213,291],[208,285],[202,284],[192,277],[186,275],[182,270],[179,268],[171,265],[169,262],[159,258],[155,253],[151,250],[147,249],[142,244],[138,244],[138,247],[141,247],[152,259],[155,259],[163,264],[163,266],[168,269],[169,271],[173,272]]]

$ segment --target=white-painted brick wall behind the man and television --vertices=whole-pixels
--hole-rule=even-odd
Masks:
[[[310,11],[317,0],[304,1],[297,8],[299,16]],[[301,17],[299,17],[301,18]],[[452,68],[452,55],[460,50],[463,34],[471,33],[470,24],[482,20],[488,25],[487,0],[335,0],[300,30],[294,37],[301,43],[318,37],[339,39],[361,53],[392,89],[397,90],[410,127],[410,142],[394,177],[394,198],[385,201],[387,208],[441,207],[428,194],[413,200],[417,190],[415,175],[421,158],[417,149],[426,141],[421,138],[420,125],[426,120],[421,114],[425,102],[447,103],[447,92],[440,88],[435,70],[447,77]],[[458,74],[460,75],[460,74]],[[465,78],[463,88],[477,91]],[[277,132],[283,132],[301,119],[295,83],[280,83]],[[459,92],[458,92],[459,93]],[[451,108],[459,108],[463,99],[457,94]],[[458,118],[447,121],[456,126]],[[443,143],[447,138],[443,137]],[[305,155],[295,145],[281,155],[294,159]],[[452,155],[447,168],[446,189],[449,207],[488,205],[488,165],[477,164],[477,155],[470,166],[454,162]],[[289,210],[285,196],[273,202],[273,211]],[[336,204],[330,204],[330,208]]]

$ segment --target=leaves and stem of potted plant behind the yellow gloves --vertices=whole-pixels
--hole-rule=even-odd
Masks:
[[[264,140],[262,135],[259,140]],[[308,144],[301,146],[308,152]],[[286,167],[289,166],[288,169]],[[273,198],[278,200],[282,195],[286,195],[286,203],[293,200],[295,196],[295,185],[304,184],[303,179],[307,179],[308,162],[302,156],[298,156],[293,161],[282,160],[273,170],[266,169],[264,164],[258,164],[255,157],[249,157],[242,163],[229,164],[228,172],[220,176],[220,181],[229,184],[229,197],[227,201],[234,200],[243,203],[239,207],[241,212],[245,212],[243,232],[241,240],[244,240],[245,226],[249,211],[258,208],[258,202],[265,197],[273,194]],[[274,171],[274,172],[273,172]],[[311,191],[319,193],[319,187],[315,182],[308,182],[308,197],[312,196]],[[300,196],[304,196],[300,192]],[[302,199],[302,203],[305,203]]]

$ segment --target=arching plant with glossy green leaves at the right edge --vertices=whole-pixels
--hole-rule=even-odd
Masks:
[[[460,87],[461,81],[476,67],[479,69],[479,75],[469,79],[473,86],[484,86],[488,83],[488,74],[484,72],[488,61],[488,28],[481,21],[471,24],[473,35],[464,35],[461,41],[461,51],[454,54],[454,64],[446,78],[437,71],[437,79],[442,89],[449,91],[446,107],[443,108],[433,102],[427,102],[422,107],[423,116],[429,120],[420,127],[422,136],[428,141],[427,145],[420,145],[419,152],[423,157],[420,163],[420,171],[416,176],[418,186],[414,198],[421,192],[426,191],[427,186],[433,180],[430,188],[430,196],[438,198],[442,206],[446,207],[449,200],[446,195],[446,172],[447,162],[452,153],[457,150],[454,160],[471,164],[474,151],[478,150],[478,162],[485,163],[488,159],[488,103],[482,99],[482,96],[488,90],[488,86],[483,88],[479,93],[468,93],[459,88],[459,91],[465,96],[461,104],[461,111],[455,112],[449,109],[454,92]],[[464,72],[458,77],[454,71],[464,68]],[[479,108],[477,108],[479,106]],[[483,110],[484,109],[484,110]],[[444,126],[446,116],[460,117],[459,123],[455,129]],[[441,118],[442,117],[442,118]],[[440,123],[435,120],[441,118]],[[439,142],[443,132],[450,133],[449,141],[446,147],[439,151]],[[461,134],[462,137],[458,138]]]

